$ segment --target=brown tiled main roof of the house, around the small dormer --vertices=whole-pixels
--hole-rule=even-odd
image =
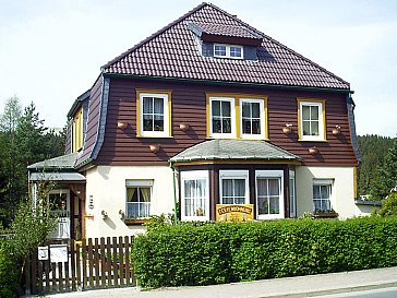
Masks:
[[[195,24],[212,35],[262,38],[257,60],[204,57]],[[255,37],[256,36],[256,37]],[[320,50],[320,49],[318,49]],[[350,88],[349,83],[219,8],[202,3],[103,67],[104,74],[237,82],[315,88]]]

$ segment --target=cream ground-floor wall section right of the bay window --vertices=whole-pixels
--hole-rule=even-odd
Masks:
[[[313,213],[313,180],[333,180],[330,203],[339,218],[362,215],[354,203],[353,167],[305,167],[296,169],[298,216],[304,212]]]

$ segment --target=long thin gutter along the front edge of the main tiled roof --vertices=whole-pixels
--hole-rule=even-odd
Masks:
[[[139,74],[121,74],[121,73],[107,73],[103,72],[106,78],[130,78],[147,81],[163,81],[163,82],[177,82],[177,83],[192,83],[192,84],[210,84],[210,85],[225,85],[225,86],[245,86],[245,87],[266,87],[266,88],[281,88],[291,91],[313,91],[313,92],[329,92],[341,94],[353,94],[354,91],[348,88],[329,88],[329,87],[309,87],[309,86],[292,86],[292,85],[277,85],[277,84],[260,84],[260,83],[242,83],[230,81],[216,81],[204,79],[182,79],[182,78],[165,78],[153,75],[139,75]]]

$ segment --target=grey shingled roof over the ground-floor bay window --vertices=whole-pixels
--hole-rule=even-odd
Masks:
[[[210,140],[189,147],[169,160],[183,163],[193,160],[262,159],[264,162],[300,162],[301,158],[266,141]]]

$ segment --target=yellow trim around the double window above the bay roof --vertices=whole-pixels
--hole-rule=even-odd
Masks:
[[[234,126],[236,126],[236,136],[234,138],[225,138],[225,139],[231,139],[231,140],[251,140],[249,138],[241,138],[241,128],[240,128],[240,99],[262,99],[264,111],[263,111],[263,126],[264,126],[264,139],[255,139],[252,138],[252,140],[268,140],[268,118],[267,118],[267,98],[268,96],[265,95],[258,95],[258,94],[245,94],[245,93],[205,93],[206,97],[206,132],[207,132],[207,139],[218,139],[210,136],[210,115],[209,115],[209,103],[210,97],[226,97],[226,98],[234,98],[234,112],[236,112],[236,119],[234,119]]]

